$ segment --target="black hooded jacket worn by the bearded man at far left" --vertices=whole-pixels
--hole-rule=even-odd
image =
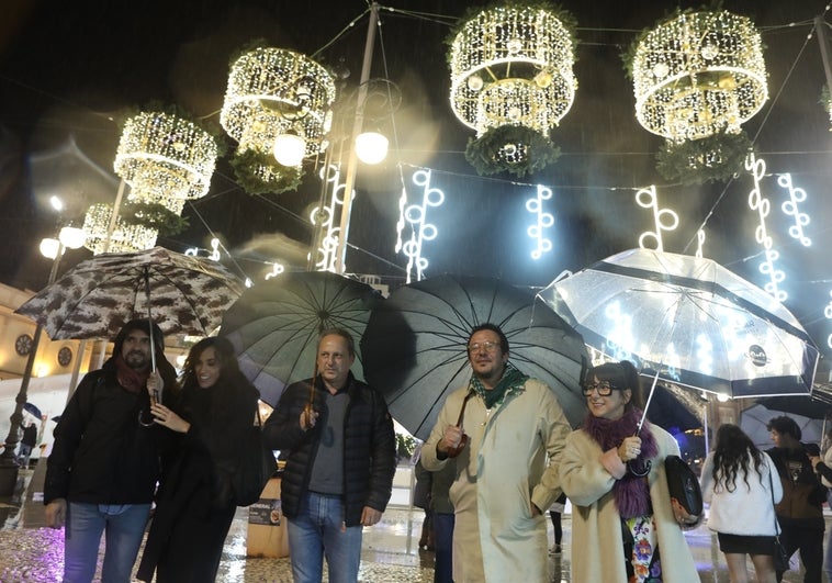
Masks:
[[[55,428],[47,459],[44,504],[56,498],[91,504],[143,504],[154,496],[159,474],[156,439],[159,427],[149,418],[147,391],[130,392],[119,384],[115,358],[134,329],[148,332],[147,321],[131,321],[114,340],[113,357],[101,370],[87,373]],[[176,371],[165,359],[161,330],[154,324],[156,366],[165,386]]]

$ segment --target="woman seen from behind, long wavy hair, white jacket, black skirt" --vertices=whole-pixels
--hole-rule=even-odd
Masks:
[[[774,504],[783,497],[777,469],[733,424],[717,430],[700,477],[702,500],[710,503],[708,528],[717,532],[731,581],[749,581],[747,556],[757,583],[775,583],[774,537],[779,534]]]

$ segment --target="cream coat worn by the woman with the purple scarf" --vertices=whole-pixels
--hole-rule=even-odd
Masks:
[[[650,430],[659,446],[648,479],[662,553],[662,581],[699,581],[690,549],[673,516],[664,473],[664,458],[678,456],[678,444],[661,427],[650,425]],[[598,444],[583,429],[570,434],[561,453],[561,485],[572,502],[573,583],[627,582],[621,519],[611,492],[615,478],[601,463],[603,455]]]

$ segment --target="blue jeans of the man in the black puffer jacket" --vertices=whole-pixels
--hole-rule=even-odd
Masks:
[[[361,563],[361,527],[344,526],[339,496],[307,493],[301,511],[288,520],[294,583],[321,583],[324,557],[330,583],[356,583]]]

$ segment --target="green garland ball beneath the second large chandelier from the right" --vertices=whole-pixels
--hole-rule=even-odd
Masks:
[[[465,159],[480,176],[509,172],[520,178],[555,161],[561,148],[547,136],[525,125],[492,127],[479,138],[469,138]]]

